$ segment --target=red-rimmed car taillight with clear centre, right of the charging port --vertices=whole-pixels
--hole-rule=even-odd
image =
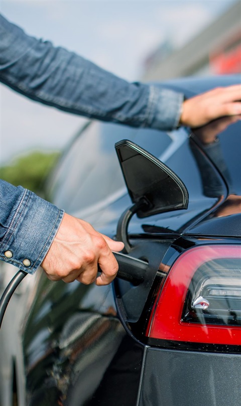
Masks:
[[[154,306],[150,338],[241,345],[241,246],[184,251],[169,270]]]

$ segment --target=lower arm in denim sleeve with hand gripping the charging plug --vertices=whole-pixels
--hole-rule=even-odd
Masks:
[[[123,242],[113,241],[83,220],[64,214],[33,192],[0,180],[0,259],[29,274],[41,265],[51,281],[95,281],[97,285],[116,276],[113,251]]]

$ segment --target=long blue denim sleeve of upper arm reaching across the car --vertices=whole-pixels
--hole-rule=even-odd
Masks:
[[[1,17],[0,80],[67,112],[132,126],[171,129],[183,96],[129,83],[50,42],[30,37]]]

